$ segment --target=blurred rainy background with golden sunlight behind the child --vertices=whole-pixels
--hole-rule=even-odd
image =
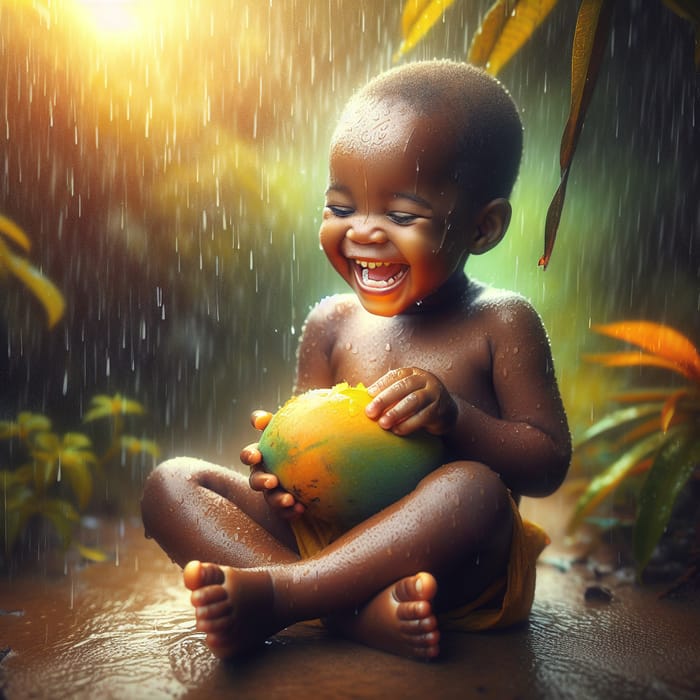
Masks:
[[[162,456],[238,463],[248,416],[292,390],[303,319],[343,289],[318,246],[330,133],[391,66],[398,0],[2,0],[0,214],[66,299],[0,276],[0,419],[80,421],[91,396],[148,410]],[[490,2],[455,2],[407,57],[463,59]],[[617,3],[554,255],[576,4],[499,78],[525,154],[504,242],[472,275],[532,300],[574,432],[611,376],[590,323],[649,319],[700,338],[700,92],[692,27],[659,0]]]

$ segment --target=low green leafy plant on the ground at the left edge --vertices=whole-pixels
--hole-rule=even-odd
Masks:
[[[109,419],[109,439],[102,449],[82,432],[63,435],[51,419],[22,412],[14,421],[0,421],[0,440],[9,441],[11,465],[0,469],[0,520],[5,526],[4,550],[10,555],[22,533],[36,518],[51,523],[64,548],[70,546],[73,528],[90,502],[95,476],[117,456],[159,455],[155,442],[124,435],[124,416],[145,413],[143,406],[120,394],[95,396],[85,423]],[[83,557],[100,560],[99,550],[78,545]]]

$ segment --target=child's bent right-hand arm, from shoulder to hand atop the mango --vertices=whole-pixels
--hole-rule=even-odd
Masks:
[[[546,495],[563,480],[571,457],[546,333],[519,297],[481,313],[490,315],[484,326],[498,415],[450,394],[417,368],[394,370],[371,386],[368,415],[399,434],[424,428],[442,435],[456,458],[488,465],[516,493]]]

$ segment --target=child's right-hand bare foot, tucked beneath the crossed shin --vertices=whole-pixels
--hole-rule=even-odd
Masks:
[[[440,630],[432,601],[437,581],[420,572],[402,578],[357,613],[333,616],[331,624],[342,634],[368,646],[415,659],[433,659],[440,653]]]

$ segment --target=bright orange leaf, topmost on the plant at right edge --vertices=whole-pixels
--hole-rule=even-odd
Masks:
[[[700,353],[693,343],[675,328],[653,321],[619,321],[594,324],[591,329],[658,355],[677,365],[676,371],[700,381]]]

